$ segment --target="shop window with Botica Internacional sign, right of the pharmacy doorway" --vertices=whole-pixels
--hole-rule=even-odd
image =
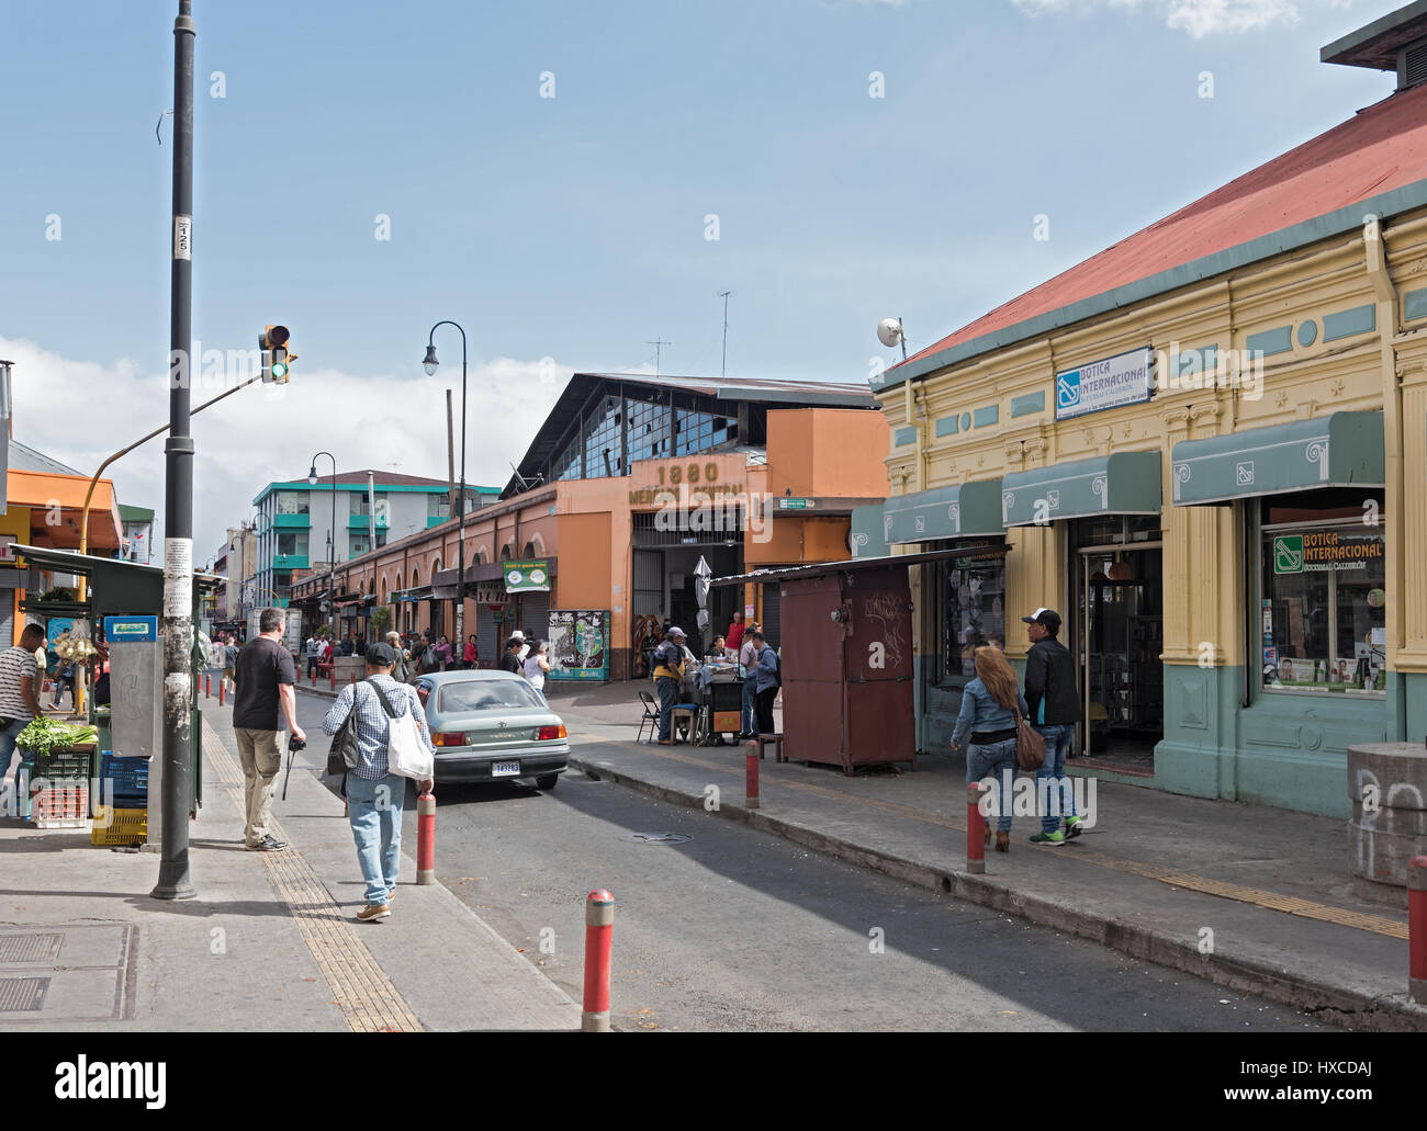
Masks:
[[[1373,695],[1386,686],[1384,523],[1341,513],[1263,528],[1266,692]]]

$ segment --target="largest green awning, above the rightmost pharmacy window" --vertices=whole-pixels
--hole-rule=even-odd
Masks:
[[[1323,486],[1381,486],[1383,414],[1333,412],[1174,445],[1174,503],[1193,506]]]

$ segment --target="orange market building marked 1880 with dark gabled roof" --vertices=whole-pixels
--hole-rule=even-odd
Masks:
[[[849,556],[855,506],[886,495],[888,425],[865,387],[812,381],[575,374],[501,501],[465,518],[465,630],[494,666],[515,628],[594,623],[604,677],[641,675],[648,626],[699,640],[695,570],[712,576]],[[404,632],[455,638],[457,531],[447,522],[307,578],[293,598],[342,630],[385,606]],[[778,588],[709,593],[709,630],[735,609],[778,642]],[[555,613],[557,616],[551,618]],[[568,629],[567,629],[568,636]],[[599,677],[585,670],[584,677]]]

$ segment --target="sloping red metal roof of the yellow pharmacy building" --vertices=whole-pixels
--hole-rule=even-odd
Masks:
[[[1359,111],[1311,141],[996,307],[888,369],[888,384],[896,384],[902,367],[942,351],[979,338],[990,338],[986,349],[999,348],[1016,341],[1015,328],[1032,319],[1424,180],[1427,87],[1417,87]],[[1264,254],[1277,252],[1266,245]],[[1163,290],[1187,281],[1166,280]],[[1023,337],[1039,332],[1043,332],[1040,327],[1027,325]],[[976,352],[982,351],[975,347],[958,351],[948,364]],[[925,371],[926,365],[919,369]]]

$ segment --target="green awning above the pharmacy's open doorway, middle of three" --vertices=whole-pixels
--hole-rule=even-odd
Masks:
[[[1157,515],[1160,454],[1112,452],[1012,472],[1000,481],[1000,505],[1007,526],[1093,515]]]

